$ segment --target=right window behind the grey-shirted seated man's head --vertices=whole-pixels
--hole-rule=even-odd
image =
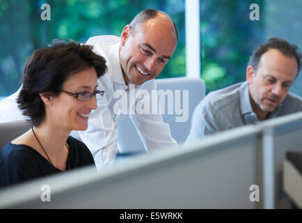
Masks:
[[[260,20],[251,21],[249,6],[257,3]],[[269,38],[280,37],[302,49],[302,1],[200,1],[201,77],[207,91],[243,82],[253,50]],[[302,96],[302,77],[291,92]]]

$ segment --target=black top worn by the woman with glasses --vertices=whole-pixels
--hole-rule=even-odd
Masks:
[[[95,165],[93,155],[83,142],[68,137],[67,144],[66,170]],[[62,171],[30,146],[8,142],[0,153],[0,187],[59,172]]]

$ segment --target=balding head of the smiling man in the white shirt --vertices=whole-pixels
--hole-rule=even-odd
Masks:
[[[177,45],[177,29],[166,13],[144,10],[120,35],[120,66],[125,84],[158,77]]]

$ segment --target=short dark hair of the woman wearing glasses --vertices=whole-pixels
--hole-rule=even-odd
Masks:
[[[60,94],[63,83],[70,76],[89,68],[95,68],[97,78],[104,75],[106,61],[92,49],[93,46],[72,40],[54,40],[33,52],[24,68],[22,89],[17,98],[19,109],[29,117],[32,125],[40,125],[45,118],[40,93]]]

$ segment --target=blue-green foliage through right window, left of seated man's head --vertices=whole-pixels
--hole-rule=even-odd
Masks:
[[[207,91],[246,79],[246,64],[264,41],[264,20],[251,21],[252,3],[264,11],[264,1],[200,1],[201,70]]]

